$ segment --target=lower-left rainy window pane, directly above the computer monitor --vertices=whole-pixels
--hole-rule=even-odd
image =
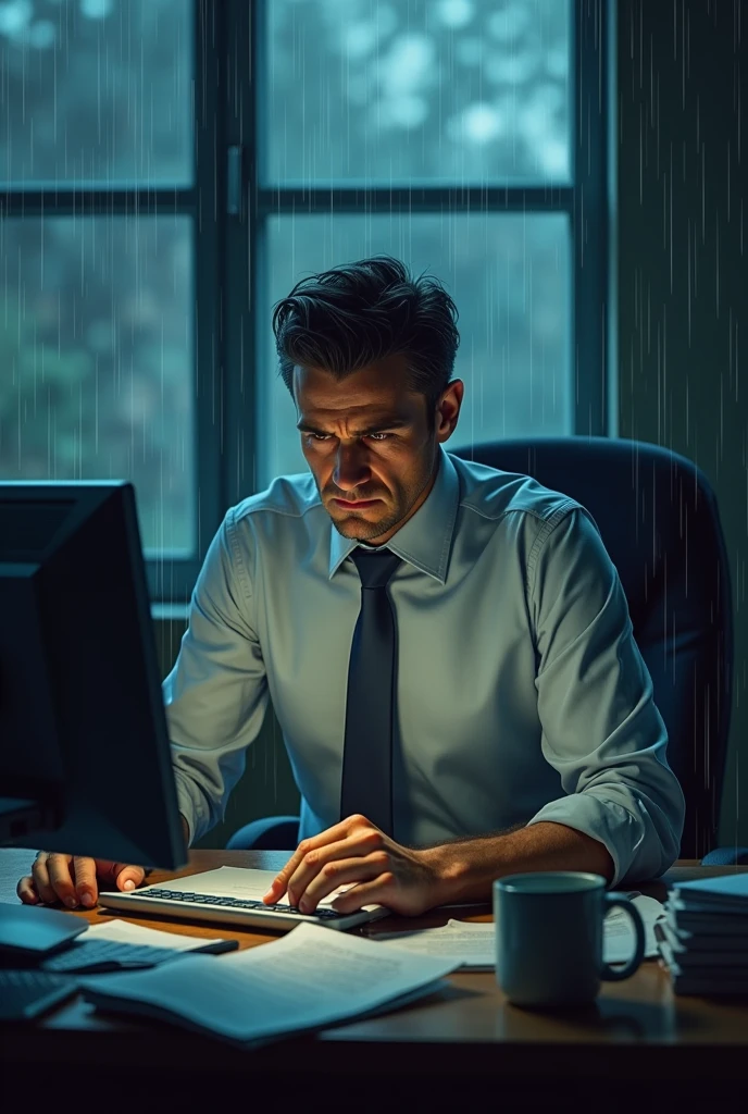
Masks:
[[[132,480],[146,550],[191,555],[191,221],[4,221],[0,258],[0,479]]]

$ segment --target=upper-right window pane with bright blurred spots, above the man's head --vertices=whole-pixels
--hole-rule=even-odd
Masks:
[[[569,0],[267,0],[266,11],[266,180],[569,182]]]

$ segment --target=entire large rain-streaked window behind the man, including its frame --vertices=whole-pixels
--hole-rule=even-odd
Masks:
[[[457,448],[607,432],[606,0],[2,0],[0,479],[129,478],[154,599],[306,470],[272,306],[446,284]]]

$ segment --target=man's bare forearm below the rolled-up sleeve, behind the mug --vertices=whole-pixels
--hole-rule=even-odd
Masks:
[[[540,821],[505,836],[479,837],[443,843],[423,851],[441,879],[435,905],[453,901],[490,901],[491,883],[504,874],[534,870],[589,870],[610,882],[613,860],[591,836]]]

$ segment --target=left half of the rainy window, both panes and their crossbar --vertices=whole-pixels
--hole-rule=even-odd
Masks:
[[[193,6],[0,7],[0,478],[130,479],[197,551]]]

